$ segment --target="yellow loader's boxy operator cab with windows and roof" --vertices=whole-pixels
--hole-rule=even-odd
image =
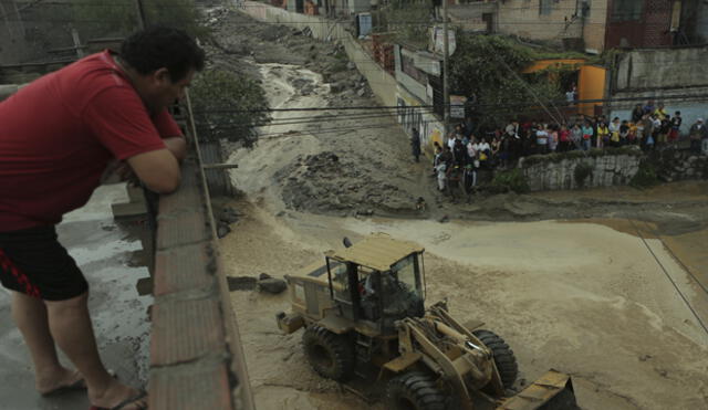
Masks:
[[[421,317],[425,306],[424,250],[409,242],[373,238],[326,255],[330,295],[341,316],[381,334],[395,322]]]

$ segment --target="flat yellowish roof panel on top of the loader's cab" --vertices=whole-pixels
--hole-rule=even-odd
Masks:
[[[342,262],[351,261],[377,271],[387,271],[391,265],[409,254],[423,251],[425,249],[414,242],[374,235],[356,242],[352,248],[337,250],[330,256]]]

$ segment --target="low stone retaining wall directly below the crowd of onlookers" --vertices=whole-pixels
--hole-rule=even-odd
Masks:
[[[519,167],[531,191],[554,191],[579,188],[627,185],[639,169],[641,151],[622,150],[622,154],[591,150],[522,158]],[[592,168],[582,185],[575,178],[575,169],[582,165]]]

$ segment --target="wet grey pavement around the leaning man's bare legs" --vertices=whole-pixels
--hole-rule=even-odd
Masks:
[[[126,382],[140,387],[147,380],[147,307],[152,296],[135,288],[145,267],[134,267],[142,249],[139,224],[113,221],[111,203],[125,201],[123,186],[101,187],[88,204],[66,215],[59,238],[76,260],[91,285],[90,306],[106,366]],[[64,364],[69,360],[63,357]],[[0,287],[0,408],[3,410],[88,409],[85,391],[42,398],[34,390],[29,353],[10,316],[10,295]]]

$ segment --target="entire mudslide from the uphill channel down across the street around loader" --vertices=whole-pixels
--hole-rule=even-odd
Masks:
[[[335,44],[248,22],[215,22],[231,50],[215,60],[248,65],[271,106],[375,104],[366,90],[358,96],[358,74],[333,72]],[[233,149],[230,175],[243,196],[230,203],[239,219],[221,240],[228,275],[282,277],[344,235],[387,232],[427,249],[429,303],[448,298],[452,314],[508,340],[520,385],[555,368],[573,376],[583,409],[707,406],[707,182],[454,203],[436,192],[429,164],[413,162],[395,118],[347,115],[314,112],[317,122],[282,125],[303,114],[277,113],[281,125],[261,129],[254,149]],[[317,377],[301,332],[279,333],[287,295],[231,295],[259,408],[383,409]]]

